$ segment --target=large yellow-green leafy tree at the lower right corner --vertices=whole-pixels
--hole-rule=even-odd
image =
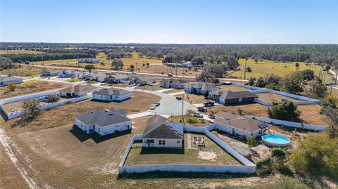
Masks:
[[[327,133],[308,135],[292,150],[290,163],[297,173],[331,175],[338,178],[338,139]]]

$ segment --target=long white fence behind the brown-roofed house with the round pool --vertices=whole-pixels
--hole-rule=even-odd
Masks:
[[[283,125],[283,126],[289,126],[294,128],[300,128],[300,129],[308,129],[308,130],[314,130],[314,131],[324,131],[326,129],[325,125],[316,125],[316,124],[302,124],[298,122],[288,122],[280,119],[270,119],[267,117],[257,117],[252,115],[247,115],[246,117],[257,119],[258,121],[265,122],[268,124],[277,124],[277,125]]]

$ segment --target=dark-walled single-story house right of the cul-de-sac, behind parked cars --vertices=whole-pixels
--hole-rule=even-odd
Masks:
[[[218,89],[209,93],[209,98],[223,104],[235,103],[253,103],[258,96],[249,91],[230,91],[227,89]]]

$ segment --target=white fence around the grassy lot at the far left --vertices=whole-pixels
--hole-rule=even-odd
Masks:
[[[50,93],[47,93],[47,94],[50,94]],[[49,110],[53,107],[65,105],[68,102],[76,103],[76,102],[79,102],[81,100],[86,100],[86,99],[89,99],[89,98],[92,98],[92,97],[93,97],[93,95],[92,95],[92,93],[90,93],[90,94],[87,94],[86,96],[80,96],[78,98],[70,98],[68,100],[63,100],[63,101],[59,101],[59,102],[56,102],[56,103],[51,103],[49,105],[44,105],[44,106],[40,107],[40,109],[41,110]],[[37,97],[33,97],[33,98],[37,98]],[[32,99],[32,98],[25,98],[25,100],[27,100],[27,99]],[[13,102],[17,102],[17,101],[13,101]],[[3,112],[5,113],[8,120],[21,117],[25,114],[24,112],[9,112],[8,113],[7,110],[4,107],[4,103],[1,102],[1,101],[0,101],[0,107],[1,107],[1,110],[3,110]]]

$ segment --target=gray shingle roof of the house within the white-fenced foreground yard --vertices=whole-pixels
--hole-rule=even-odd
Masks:
[[[183,138],[183,125],[168,123],[168,119],[160,115],[151,117],[146,124],[142,138]]]

